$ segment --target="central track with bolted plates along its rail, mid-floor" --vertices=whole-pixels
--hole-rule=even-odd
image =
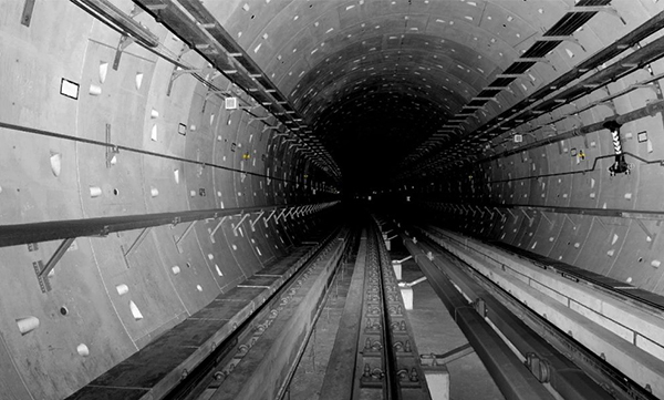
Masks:
[[[320,399],[430,399],[387,249],[365,226]]]

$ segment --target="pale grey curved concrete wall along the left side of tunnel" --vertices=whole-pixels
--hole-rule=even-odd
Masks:
[[[117,6],[127,13],[133,7]],[[330,199],[295,147],[248,113],[225,110],[222,99],[206,96],[208,89],[193,76],[179,76],[167,95],[169,62],[134,44],[115,71],[120,35],[69,1],[38,2],[30,28],[20,23],[22,10],[20,1],[0,3],[3,123],[97,141],[108,130],[115,144],[276,178],[126,151],[108,167],[104,146],[0,129],[2,225]],[[154,19],[137,19],[174,54],[181,52],[183,43]],[[183,59],[206,66],[195,52]],[[62,79],[80,84],[77,100],[60,94]],[[224,76],[214,83],[234,89]],[[273,117],[267,123],[276,124]],[[178,133],[180,124],[186,135]],[[238,220],[226,219],[215,243],[208,232],[217,220],[196,224],[181,253],[174,237],[188,224],[153,228],[126,259],[123,253],[141,229],[80,237],[45,294],[32,264],[45,263],[59,243],[0,249],[7,277],[0,280],[0,397],[68,396],[286,255],[308,227],[272,218],[268,226],[256,224],[256,232],[243,224],[236,236],[231,224]],[[40,324],[22,336],[17,324],[28,317]]]

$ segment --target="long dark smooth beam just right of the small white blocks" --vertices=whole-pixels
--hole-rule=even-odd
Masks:
[[[408,253],[428,277],[429,284],[468,338],[505,398],[554,399],[415,240],[405,236],[403,239]]]

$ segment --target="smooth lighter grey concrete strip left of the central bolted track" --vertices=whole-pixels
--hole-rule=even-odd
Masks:
[[[290,370],[297,367],[307,338],[318,317],[330,283],[344,252],[345,234],[340,234],[299,278],[288,300],[281,301],[270,326],[241,357],[210,397],[220,399],[266,399],[283,396]]]

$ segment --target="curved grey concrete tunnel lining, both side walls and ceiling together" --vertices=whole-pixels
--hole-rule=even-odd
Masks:
[[[133,9],[128,0],[114,3],[126,13]],[[417,83],[422,90],[427,84],[435,85],[439,91],[427,95],[447,99],[444,106],[452,115],[532,44],[539,27],[550,27],[573,3],[225,0],[206,1],[206,7],[289,100],[314,116],[334,105],[339,93],[354,93],[354,85],[372,76],[375,65],[392,63],[384,55],[400,50],[390,38],[414,35],[406,38],[412,42],[404,41],[413,45],[414,55],[408,61],[412,64],[404,64],[406,70],[408,65],[423,69],[417,71],[417,81],[408,84]],[[547,63],[538,63],[510,91],[500,92],[476,119],[468,120],[468,131],[508,110],[664,7],[650,0],[614,1],[614,6],[622,20],[610,13],[590,20],[574,32],[577,43],[564,42],[548,54]],[[112,143],[294,183],[287,185],[125,151],[108,167],[102,146],[0,129],[1,224],[333,198],[326,193],[332,185],[325,175],[283,137],[263,131],[262,122],[252,121],[247,113],[225,110],[221,99],[208,96],[207,88],[191,75],[177,78],[167,95],[173,64],[132,44],[123,52],[117,71],[113,70],[120,34],[72,3],[38,1],[30,27],[20,23],[22,10],[20,1],[0,2],[1,122],[97,141],[105,140],[110,125]],[[404,16],[409,16],[406,28]],[[158,35],[175,57],[183,54],[183,60],[195,68],[207,66],[194,51],[183,53],[181,41],[153,18],[142,13],[135,19]],[[435,43],[429,42],[432,38],[437,39]],[[350,47],[354,52],[339,59]],[[618,92],[651,73],[664,72],[664,64],[656,61],[650,69],[612,82],[606,91],[595,91],[575,104],[542,114],[517,131],[529,132],[525,135],[529,143],[554,130],[563,132],[613,115],[611,109],[595,106],[561,120],[573,115],[578,105]],[[212,76],[209,75],[217,86],[235,90],[226,78]],[[62,79],[80,85],[77,100],[60,94]],[[240,98],[248,99],[246,94]],[[615,112],[622,114],[661,98],[658,89],[644,88],[613,102]],[[276,120],[270,117],[267,123],[274,124]],[[178,133],[178,129],[183,130],[180,124],[186,135]],[[541,127],[532,131],[537,126]],[[661,115],[626,124],[622,129],[625,151],[647,160],[663,158],[663,127]],[[649,133],[649,140],[641,143],[637,133],[643,131]],[[498,137],[489,144],[496,148],[516,146],[511,142],[504,144],[504,140]],[[585,158],[571,156],[572,148],[583,150]],[[663,172],[656,164],[635,162],[631,175],[610,177],[606,167],[611,161],[606,160],[600,161],[593,172],[574,173],[589,167],[594,157],[610,153],[612,141],[604,130],[480,165],[473,178],[467,174],[456,178],[438,173],[430,180],[433,185],[427,178],[408,186],[408,191],[414,201],[662,211],[664,186],[658,182]],[[519,180],[552,173],[564,175]],[[91,196],[91,187],[98,187],[101,194]],[[397,188],[402,187],[393,187]],[[96,194],[96,189],[92,193]],[[649,240],[632,219],[599,222],[562,213],[547,214],[548,219],[538,213],[530,216],[532,223],[526,217],[502,222],[498,215],[488,218],[477,214],[463,224],[478,236],[505,240],[663,293],[662,269],[655,263],[662,257],[661,235]],[[32,264],[45,261],[56,243],[40,244],[37,250],[28,246],[0,249],[0,268],[3,276],[11,277],[0,280],[2,387],[17,399],[71,393],[205,306],[221,290],[283,255],[292,236],[305,226],[298,220],[292,226],[258,224],[255,233],[243,229],[236,236],[231,223],[222,225],[216,243],[208,239],[209,225],[197,224],[183,240],[183,253],[174,246],[173,237],[183,234],[184,224],[154,228],[126,261],[123,248],[131,246],[139,232],[79,238],[55,268],[51,277],[55,290],[48,294],[40,290]],[[643,224],[651,233],[661,230],[654,222]],[[124,293],[123,285],[128,291]],[[66,315],[62,315],[62,307]],[[142,318],[137,318],[136,310]],[[30,316],[39,318],[40,326],[21,336],[17,320]]]

